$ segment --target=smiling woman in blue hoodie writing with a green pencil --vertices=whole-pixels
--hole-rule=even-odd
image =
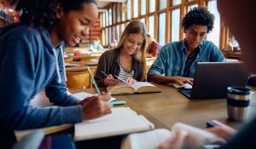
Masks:
[[[94,0],[12,0],[20,22],[0,31],[0,140],[15,129],[79,123],[111,112],[110,95],[82,102],[65,86],[64,44],[88,35]],[[30,106],[42,89],[55,107]],[[4,135],[4,136],[2,136]],[[1,148],[1,147],[0,147]]]

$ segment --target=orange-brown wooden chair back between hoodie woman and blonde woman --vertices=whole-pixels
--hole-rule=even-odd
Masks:
[[[66,72],[68,89],[90,88],[89,72]]]

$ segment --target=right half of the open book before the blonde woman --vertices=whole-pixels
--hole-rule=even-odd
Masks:
[[[138,93],[160,92],[160,89],[158,89],[152,83],[148,82],[137,82],[131,85],[131,87],[135,89]]]

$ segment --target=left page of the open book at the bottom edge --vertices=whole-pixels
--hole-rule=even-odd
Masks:
[[[171,136],[168,129],[154,129],[143,133],[128,135],[121,144],[121,149],[154,149]]]

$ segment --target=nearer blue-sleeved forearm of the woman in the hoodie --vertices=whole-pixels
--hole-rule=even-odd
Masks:
[[[20,109],[5,109],[1,115],[1,123],[6,129],[38,129],[63,123],[79,123],[82,121],[82,108],[23,106]]]

